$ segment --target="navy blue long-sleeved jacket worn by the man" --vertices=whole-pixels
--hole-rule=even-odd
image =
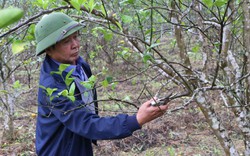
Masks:
[[[80,57],[86,75],[91,76],[89,65]],[[58,93],[66,89],[63,78],[52,71],[58,65],[46,56],[40,73],[38,91],[38,117],[36,126],[36,152],[44,156],[91,156],[93,140],[118,139],[132,135],[140,129],[136,116],[120,114],[100,117],[86,110],[76,89],[76,101],[72,102]],[[67,73],[63,73],[63,77]],[[48,96],[44,88],[57,88]],[[94,100],[96,94],[94,95]]]

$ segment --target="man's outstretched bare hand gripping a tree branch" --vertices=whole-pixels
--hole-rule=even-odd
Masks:
[[[154,120],[155,118],[158,118],[162,116],[166,110],[168,109],[168,105],[161,105],[161,106],[151,106],[151,102],[155,101],[157,99],[151,99],[144,104],[141,105],[139,108],[136,118],[140,126],[144,125],[147,122],[150,122]],[[167,103],[168,101],[166,101]]]

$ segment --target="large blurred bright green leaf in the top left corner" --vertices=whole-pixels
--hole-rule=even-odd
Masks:
[[[0,10],[0,29],[19,21],[23,17],[23,14],[23,10],[19,8]]]

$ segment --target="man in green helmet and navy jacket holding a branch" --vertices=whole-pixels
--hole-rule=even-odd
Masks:
[[[92,143],[96,140],[131,136],[167,110],[166,105],[151,106],[152,100],[149,100],[136,115],[98,116],[95,89],[89,91],[81,85],[91,76],[89,65],[79,56],[78,31],[82,27],[81,23],[59,12],[45,15],[36,25],[36,54],[46,53],[38,91],[38,155],[93,155]],[[60,73],[62,64],[69,66]],[[70,92],[74,84],[74,98],[71,99],[62,92]]]

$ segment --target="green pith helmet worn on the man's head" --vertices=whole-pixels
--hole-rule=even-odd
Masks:
[[[83,23],[78,23],[61,12],[43,16],[35,28],[36,55],[42,54],[48,47],[83,27]]]

